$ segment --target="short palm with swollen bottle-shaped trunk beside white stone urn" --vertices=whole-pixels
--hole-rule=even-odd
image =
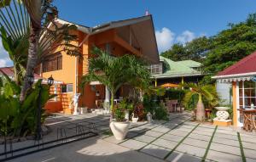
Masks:
[[[196,104],[196,120],[204,121],[205,106],[214,107],[218,104],[218,94],[216,88],[212,85],[201,85],[195,83],[184,84],[183,87],[189,87],[191,91],[186,92],[183,104],[189,107],[192,99]]]

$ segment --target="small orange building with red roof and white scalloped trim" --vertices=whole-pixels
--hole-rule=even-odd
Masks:
[[[213,76],[217,82],[232,85],[234,126],[242,126],[239,109],[256,109],[256,53],[248,55],[236,64]]]

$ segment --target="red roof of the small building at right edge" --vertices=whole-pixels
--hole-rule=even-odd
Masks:
[[[237,75],[244,73],[256,72],[256,52],[248,55],[244,59],[241,59],[236,64],[218,72],[218,75]]]

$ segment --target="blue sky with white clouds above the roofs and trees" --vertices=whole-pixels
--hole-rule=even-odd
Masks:
[[[143,16],[148,9],[160,52],[174,42],[212,36],[256,12],[255,0],[55,0],[55,5],[61,19],[88,26]],[[0,66],[9,64],[0,53]]]

